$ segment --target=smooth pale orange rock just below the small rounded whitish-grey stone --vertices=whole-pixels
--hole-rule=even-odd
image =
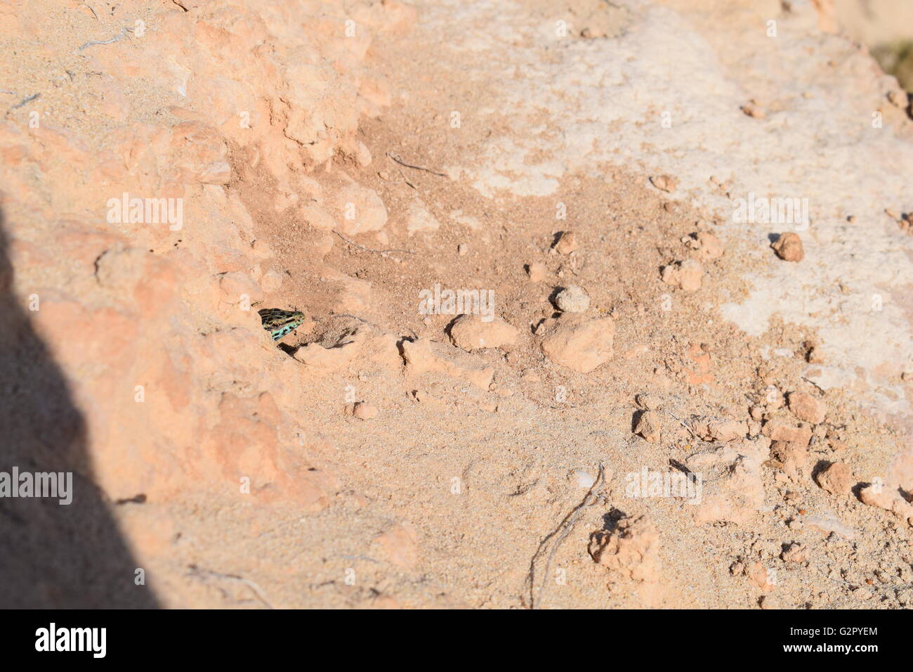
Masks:
[[[565,314],[550,320],[537,336],[542,353],[555,364],[589,373],[609,361],[613,354],[615,325],[611,318],[585,321],[580,315]]]

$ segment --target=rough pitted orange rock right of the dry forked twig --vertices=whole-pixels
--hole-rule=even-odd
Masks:
[[[593,561],[621,578],[654,581],[659,571],[659,532],[650,518],[624,517],[612,530],[598,530],[588,547]]]

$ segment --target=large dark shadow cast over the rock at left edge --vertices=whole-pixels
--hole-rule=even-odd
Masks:
[[[93,483],[86,422],[67,380],[13,295],[7,242],[0,213],[0,479],[14,469],[71,473],[72,501],[0,490],[0,608],[157,607],[134,583],[137,562]]]

